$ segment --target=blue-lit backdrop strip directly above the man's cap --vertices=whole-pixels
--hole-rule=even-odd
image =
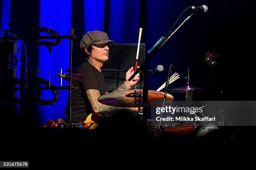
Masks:
[[[84,33],[104,31],[105,0],[84,0]]]

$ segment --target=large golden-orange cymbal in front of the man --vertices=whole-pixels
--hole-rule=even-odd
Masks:
[[[136,93],[135,93],[136,92]],[[98,98],[98,101],[104,105],[115,106],[115,107],[134,107],[134,99],[136,94],[136,100],[140,107],[143,107],[143,90],[124,90],[118,92],[110,92],[102,95]],[[162,101],[164,98],[164,92],[155,90],[148,90],[148,106],[151,105],[152,101]],[[172,101],[173,96],[166,95],[166,101]]]

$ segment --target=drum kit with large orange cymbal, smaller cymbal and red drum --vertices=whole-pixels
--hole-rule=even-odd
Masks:
[[[192,91],[202,91],[204,89],[199,87],[193,87],[189,85],[189,81],[186,86],[168,89],[168,92],[187,93]],[[163,101],[164,92],[156,90],[148,90],[148,107],[151,107],[152,102]],[[171,102],[174,97],[167,93],[166,101]],[[187,99],[187,98],[186,98]],[[115,107],[143,107],[143,90],[124,90],[111,92],[102,95],[98,98],[98,101],[104,105],[110,105]],[[195,116],[195,115],[194,115]],[[198,115],[197,115],[198,116]],[[203,113],[202,115],[203,116]],[[151,120],[152,121],[152,120]],[[193,136],[193,137],[205,137],[215,130],[222,130],[220,125],[215,122],[188,122],[189,125],[164,125],[161,126],[161,135],[179,135],[179,136]],[[148,136],[158,138],[157,127],[148,126]]]

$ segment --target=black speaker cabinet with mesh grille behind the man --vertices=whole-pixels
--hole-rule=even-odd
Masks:
[[[132,66],[134,67],[137,43],[115,43],[108,45],[109,58],[104,63],[101,70],[105,78],[105,84],[108,92],[116,90],[124,81],[126,72]],[[145,60],[145,44],[140,44],[138,65],[141,65]],[[140,81],[136,84],[136,89],[143,89],[144,74],[140,73]]]

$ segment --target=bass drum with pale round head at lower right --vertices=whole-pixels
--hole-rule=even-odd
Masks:
[[[195,138],[221,139],[226,136],[225,130],[214,123],[197,126],[191,133]]]

